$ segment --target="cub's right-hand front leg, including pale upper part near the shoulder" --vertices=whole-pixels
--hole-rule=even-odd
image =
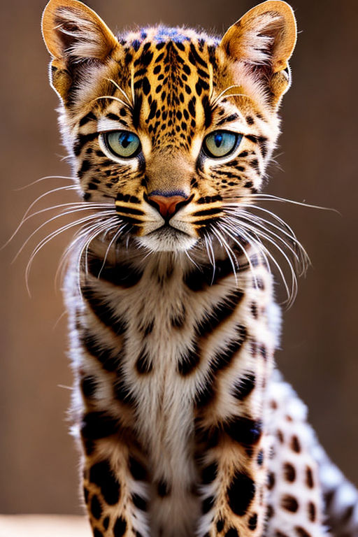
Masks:
[[[246,360],[248,354],[250,359]],[[271,369],[269,355],[271,350],[267,346],[248,338],[233,357],[231,369],[217,378],[220,389],[215,399],[197,413],[196,452],[201,466],[202,501],[200,537],[258,537],[263,534],[266,460],[271,439],[264,431],[262,399],[264,379]],[[251,363],[251,368],[243,373],[245,362]]]

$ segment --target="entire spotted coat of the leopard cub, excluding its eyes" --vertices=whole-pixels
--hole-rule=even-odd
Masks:
[[[93,212],[65,296],[94,537],[326,535],[320,468],[333,466],[275,371],[268,261],[280,264],[258,238],[291,268],[304,252],[282,221],[248,212],[290,83],[291,8],[266,1],[219,40],[114,36],[83,3],[50,0],[43,36],[79,207]],[[109,151],[103,133],[118,130],[139,137],[136,157]],[[202,145],[217,130],[242,138],[212,159]],[[341,526],[339,502],[328,522],[352,537],[354,489],[345,500]]]

